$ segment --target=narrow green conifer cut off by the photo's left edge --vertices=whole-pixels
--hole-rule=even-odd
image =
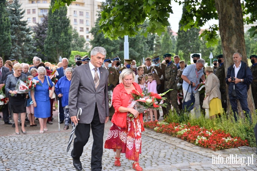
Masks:
[[[7,15],[6,0],[0,1],[0,56],[4,59],[5,56],[10,55],[11,51],[11,30],[10,21]],[[7,60],[7,59],[5,59]]]

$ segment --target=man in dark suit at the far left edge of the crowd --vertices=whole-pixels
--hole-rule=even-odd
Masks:
[[[9,73],[9,71],[10,71],[9,68],[3,66],[3,59],[0,57],[0,78],[1,78],[0,89],[2,89],[3,86],[5,86],[5,81],[6,81],[5,76],[6,76],[6,73]],[[12,123],[9,120],[8,104],[6,104],[2,108],[2,112],[3,112],[3,121],[5,122],[5,124],[11,125]]]

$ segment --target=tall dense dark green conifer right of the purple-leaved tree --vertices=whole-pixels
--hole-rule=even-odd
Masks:
[[[67,18],[67,7],[60,7],[52,12],[55,1],[51,0],[48,12],[48,29],[45,40],[45,55],[49,61],[59,62],[59,57],[68,58],[71,55],[72,29],[70,20]]]

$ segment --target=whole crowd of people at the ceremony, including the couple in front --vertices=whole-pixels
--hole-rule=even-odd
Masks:
[[[162,60],[161,60],[162,58]],[[208,99],[209,117],[215,118],[226,111],[226,94],[228,94],[235,120],[237,120],[237,100],[239,100],[246,116],[251,119],[247,104],[247,90],[252,83],[252,92],[255,107],[257,103],[256,80],[257,56],[250,57],[251,69],[242,60],[240,53],[234,53],[232,59],[234,65],[230,66],[225,77],[223,55],[218,55],[213,60],[213,67],[204,68],[205,61],[200,55],[192,55],[194,64],[186,65],[180,61],[178,55],[173,57],[170,53],[162,57],[147,57],[144,64],[136,66],[133,59],[124,59],[121,67],[121,59],[118,56],[106,58],[103,47],[95,47],[90,54],[81,57],[75,55],[76,66],[68,67],[69,61],[63,58],[61,63],[52,68],[51,63],[43,63],[40,58],[33,58],[33,66],[29,68],[26,63],[18,61],[5,61],[0,57],[0,88],[5,86],[5,94],[9,98],[9,104],[2,108],[5,124],[12,124],[9,120],[13,113],[15,133],[20,134],[18,120],[21,122],[21,132],[26,134],[25,120],[30,126],[37,126],[39,133],[48,131],[47,123],[53,124],[52,116],[56,99],[59,100],[60,123],[64,123],[64,130],[69,129],[69,124],[78,124],[75,130],[76,138],[71,152],[73,165],[77,170],[82,170],[80,156],[83,147],[89,139],[92,130],[94,143],[91,156],[91,170],[101,170],[103,155],[104,124],[108,120],[113,122],[105,148],[116,152],[115,166],[121,166],[121,153],[126,158],[133,160],[132,168],[137,171],[143,169],[139,166],[139,154],[141,153],[141,132],[144,131],[143,120],[156,121],[160,117],[159,110],[147,109],[139,113],[134,108],[128,108],[131,91],[154,92],[165,94],[167,107],[162,107],[163,116],[166,117],[171,110],[177,114],[183,112],[182,104],[187,102],[194,94],[195,102],[190,114],[196,118],[202,113],[202,102]],[[49,75],[57,71],[56,83]],[[28,93],[16,92],[17,81],[27,78],[39,81],[40,86]],[[200,94],[199,85],[205,84],[205,92]],[[226,84],[228,93],[226,93]],[[192,88],[189,88],[192,86]],[[112,92],[112,105],[109,106],[109,92]],[[53,98],[54,93],[57,98]],[[26,105],[25,105],[26,104]],[[77,111],[81,108],[83,114],[77,118]],[[134,115],[130,119],[127,113]],[[20,114],[20,115],[19,115]],[[28,116],[28,118],[26,118]],[[138,117],[139,116],[139,117]],[[20,117],[20,119],[19,119]],[[131,143],[132,142],[132,143]]]

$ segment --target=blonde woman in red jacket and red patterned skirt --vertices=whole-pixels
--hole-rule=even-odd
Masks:
[[[115,166],[121,166],[121,153],[126,153],[128,160],[134,160],[133,169],[142,171],[139,166],[141,153],[141,132],[144,131],[143,115],[133,108],[128,108],[131,91],[142,92],[140,86],[134,82],[135,74],[131,69],[124,69],[119,77],[119,85],[113,90],[113,107],[115,113],[112,126],[105,141],[105,148],[116,151]],[[127,115],[132,113],[131,120]],[[131,121],[130,121],[131,120]]]

